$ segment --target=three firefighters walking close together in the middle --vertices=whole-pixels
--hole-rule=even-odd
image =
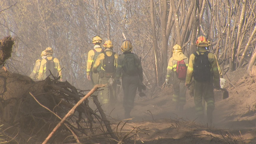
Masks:
[[[133,46],[131,41],[129,39],[123,40],[121,46],[123,54],[119,56],[113,52],[111,40],[105,41],[103,44],[104,49],[100,46],[102,43],[100,36],[94,36],[92,43],[94,44],[94,49],[88,52],[87,57],[87,79],[92,81],[93,85],[106,84],[103,90],[95,91],[92,96],[98,97],[103,110],[111,110],[117,103],[117,85],[121,85],[122,81],[124,117],[131,118],[130,112],[134,107],[136,91],[138,87],[140,88],[140,83],[143,80],[141,62],[139,57],[132,53]],[[109,60],[111,57],[113,60]],[[134,65],[136,69],[134,73],[126,70],[126,65],[129,64],[129,61],[126,61],[127,58],[131,58],[132,66]],[[106,62],[113,63],[112,65],[114,66],[107,68]]]

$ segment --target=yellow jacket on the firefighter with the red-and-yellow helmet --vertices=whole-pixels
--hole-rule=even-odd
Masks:
[[[197,54],[199,54],[198,51],[203,55],[204,52],[206,52],[206,49],[204,47],[198,47],[198,50],[196,52]],[[193,77],[193,70],[194,70],[193,65],[195,63],[195,57],[196,56],[194,54],[191,54],[189,58],[189,65],[188,65],[187,75],[186,75],[187,84],[190,84]],[[218,65],[217,65],[217,60],[215,55],[213,53],[209,53],[208,60],[211,64],[211,71],[212,71],[211,73],[213,74],[213,77],[214,77],[214,85],[220,87],[220,75],[219,75],[219,70],[218,70]]]

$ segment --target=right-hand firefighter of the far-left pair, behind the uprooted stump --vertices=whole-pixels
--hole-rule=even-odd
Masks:
[[[46,72],[47,71],[46,63],[47,63],[47,61],[51,61],[53,59],[55,69],[57,71],[57,74],[54,74],[54,76],[60,77],[60,81],[62,81],[62,73],[61,73],[61,67],[60,67],[59,59],[53,57],[53,49],[51,47],[47,47],[45,49],[45,52],[46,52],[47,57],[41,61],[41,65],[40,65],[39,73],[38,73],[38,79],[39,80],[44,80],[47,77],[47,75],[46,75],[46,73],[47,73]],[[52,72],[53,72],[53,70],[52,70]]]

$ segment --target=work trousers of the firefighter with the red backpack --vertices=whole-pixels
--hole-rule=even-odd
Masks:
[[[178,79],[177,75],[173,75],[173,101],[176,102],[177,106],[183,108],[186,103],[186,86],[185,80]]]

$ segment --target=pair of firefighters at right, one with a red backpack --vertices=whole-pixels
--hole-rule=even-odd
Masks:
[[[220,78],[222,78],[222,71],[218,61],[215,55],[208,50],[210,45],[210,41],[206,39],[206,36],[198,36],[196,39],[197,51],[191,54],[189,59],[182,53],[179,45],[174,45],[172,49],[173,55],[169,60],[165,79],[167,85],[173,84],[173,101],[176,103],[175,108],[177,110],[183,110],[186,103],[187,87],[190,90],[190,94],[194,96],[196,116],[199,121],[205,121],[203,103],[204,101],[206,102],[208,124],[213,122],[213,110],[215,108],[214,87],[220,88]],[[206,59],[205,64],[203,63],[203,57]],[[180,79],[176,71],[178,71],[178,62],[182,60],[187,69],[185,77]],[[201,69],[198,68],[198,65],[202,65]]]

